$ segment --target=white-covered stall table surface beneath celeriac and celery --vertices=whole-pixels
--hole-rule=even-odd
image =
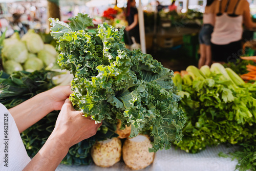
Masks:
[[[219,157],[220,152],[228,153],[236,149],[236,146],[227,148],[224,145],[217,147],[207,147],[197,154],[189,154],[181,149],[171,149],[158,151],[153,164],[141,169],[141,171],[233,171],[238,161],[230,158]],[[75,166],[60,164],[56,170],[61,171],[126,171],[132,170],[122,161],[109,168],[99,167],[91,163],[88,166]]]

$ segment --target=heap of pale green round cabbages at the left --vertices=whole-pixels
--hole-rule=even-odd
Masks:
[[[53,68],[57,64],[57,56],[54,46],[44,44],[41,36],[34,30],[29,30],[22,38],[15,32],[3,41],[3,68],[8,74]]]

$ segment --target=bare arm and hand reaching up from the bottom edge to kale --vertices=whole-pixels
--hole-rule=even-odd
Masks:
[[[56,121],[56,126],[40,151],[23,169],[55,170],[67,155],[69,148],[96,134],[100,124],[75,111],[69,99],[65,101]]]

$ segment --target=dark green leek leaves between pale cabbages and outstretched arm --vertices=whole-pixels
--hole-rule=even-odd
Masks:
[[[38,93],[55,87],[51,79],[58,74],[58,72],[40,70],[33,73],[18,71],[10,75],[0,71],[0,83],[4,87],[0,94],[1,103],[10,109]]]

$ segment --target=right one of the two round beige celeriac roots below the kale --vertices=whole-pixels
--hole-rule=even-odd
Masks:
[[[134,138],[127,138],[123,144],[123,161],[134,169],[142,169],[154,161],[155,153],[148,152],[152,144],[148,136],[138,135]]]

